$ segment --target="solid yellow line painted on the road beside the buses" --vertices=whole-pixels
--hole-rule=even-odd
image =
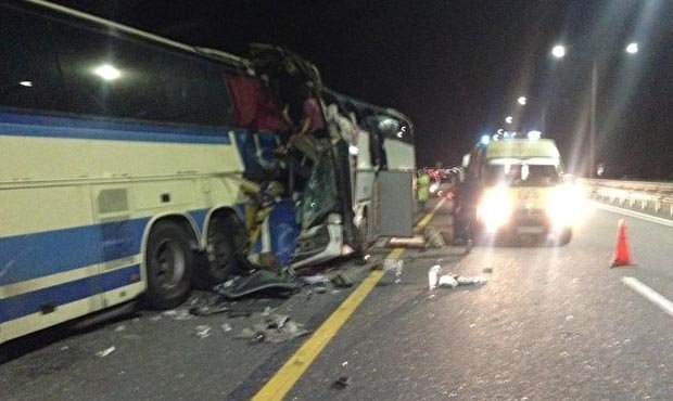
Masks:
[[[428,214],[416,228],[423,228],[432,219],[434,212],[444,203],[442,198],[437,205]],[[386,259],[398,259],[402,257],[404,248],[394,248]],[[322,349],[339,333],[348,318],[355,312],[357,307],[365,300],[367,295],[377,286],[381,277],[385,274],[383,270],[372,271],[365,281],[344,300],[339,308],[318,327],[316,333],[302,345],[302,347],[290,357],[290,359],[276,372],[276,374],[259,389],[252,398],[253,401],[275,401],[282,400],[283,397],[294,387],[304,372],[310,366],[313,361],[318,358]]]

